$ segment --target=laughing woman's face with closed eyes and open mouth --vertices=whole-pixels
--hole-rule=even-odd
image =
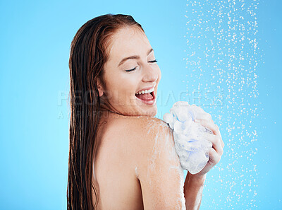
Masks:
[[[98,86],[108,110],[127,116],[157,115],[161,71],[145,33],[136,27],[121,28],[110,40],[108,50],[104,86]]]

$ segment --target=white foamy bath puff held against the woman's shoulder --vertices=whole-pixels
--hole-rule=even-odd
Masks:
[[[173,104],[170,113],[164,114],[164,122],[173,129],[176,153],[181,167],[191,174],[199,173],[209,161],[209,148],[212,142],[204,138],[204,132],[212,132],[196,123],[195,119],[211,120],[212,116],[201,107],[178,101]]]

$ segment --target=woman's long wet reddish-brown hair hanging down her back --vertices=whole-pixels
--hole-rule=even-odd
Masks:
[[[68,210],[95,209],[98,193],[92,185],[93,157],[97,151],[97,129],[101,99],[97,78],[103,81],[104,64],[111,37],[125,26],[142,26],[132,16],[106,14],[87,21],[71,42],[70,68],[70,151],[68,158]],[[94,189],[95,204],[92,202]]]

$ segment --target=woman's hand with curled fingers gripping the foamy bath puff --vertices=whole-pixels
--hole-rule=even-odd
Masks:
[[[214,124],[212,119],[196,119],[195,122],[202,124],[202,126],[207,127],[213,132],[213,134],[209,134],[208,132],[204,133],[206,139],[212,142],[212,148],[209,148],[209,161],[207,165],[199,173],[191,175],[192,177],[205,177],[206,173],[211,170],[216,163],[219,163],[223,154],[224,143],[221,139],[219,127]]]

